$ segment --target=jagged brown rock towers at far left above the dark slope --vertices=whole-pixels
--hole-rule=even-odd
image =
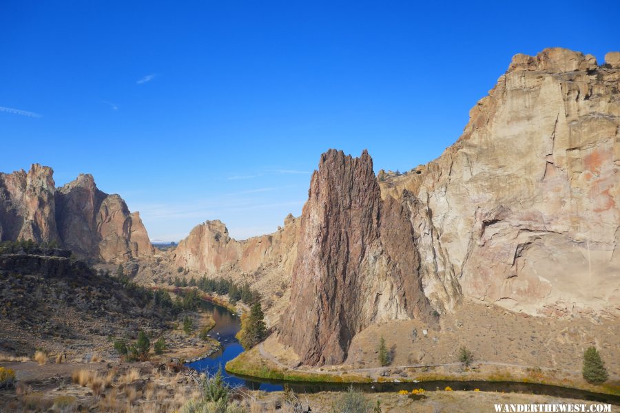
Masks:
[[[56,188],[50,167],[0,173],[0,241],[56,242],[76,255],[124,262],[153,255],[138,213],[80,175]]]

